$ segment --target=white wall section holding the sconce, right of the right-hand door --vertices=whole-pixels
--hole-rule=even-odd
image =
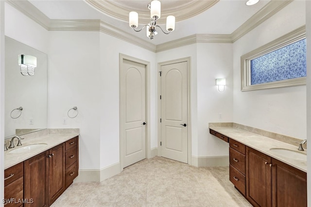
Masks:
[[[232,122],[232,64],[232,44],[197,44],[198,157],[229,155],[228,143],[209,134],[208,123]],[[224,92],[218,91],[218,78],[226,79]]]

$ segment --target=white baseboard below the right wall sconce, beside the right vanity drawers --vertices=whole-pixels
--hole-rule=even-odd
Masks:
[[[219,156],[219,157],[191,156],[191,165],[195,167],[226,167],[229,166],[229,156]]]

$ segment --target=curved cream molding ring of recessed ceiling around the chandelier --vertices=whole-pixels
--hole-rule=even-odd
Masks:
[[[163,10],[161,11],[161,18],[157,20],[157,23],[165,24],[166,17],[169,15],[175,16],[176,22],[188,19],[206,11],[218,1],[219,0],[192,0],[172,9]],[[85,2],[100,12],[125,22],[128,21],[128,14],[132,11],[131,8],[124,8],[124,6],[118,5],[111,0],[85,0]],[[150,22],[150,11],[147,5],[145,10],[137,12],[139,13],[140,23],[147,24]]]

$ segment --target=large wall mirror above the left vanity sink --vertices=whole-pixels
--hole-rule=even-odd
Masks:
[[[36,57],[33,76],[21,74],[19,55]],[[47,95],[47,54],[5,36],[5,139],[47,128]]]

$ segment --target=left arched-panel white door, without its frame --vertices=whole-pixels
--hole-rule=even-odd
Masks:
[[[146,158],[145,65],[121,63],[121,139],[123,168]]]

